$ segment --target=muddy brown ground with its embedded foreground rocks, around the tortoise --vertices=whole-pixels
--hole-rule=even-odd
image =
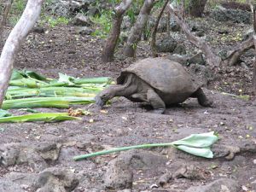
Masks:
[[[117,54],[116,61],[103,64],[103,40],[81,36],[74,26],[46,30],[29,35],[16,68],[49,77],[67,73],[115,78],[131,63]],[[139,46],[138,51],[137,59],[147,57],[148,45]],[[216,79],[204,88],[215,108],[202,108],[196,99],[189,99],[167,108],[165,114],[155,114],[148,107],[115,98],[104,111],[94,104],[74,107],[92,112],[81,121],[0,125],[0,191],[256,191],[256,104],[219,91],[223,85],[230,94],[239,93],[239,89],[248,94],[251,73],[240,66],[228,70],[230,73],[218,74],[225,74],[225,79]],[[219,136],[211,160],[173,148],[73,160],[74,155],[104,148],[170,143],[208,131]],[[201,187],[190,188],[193,186]]]

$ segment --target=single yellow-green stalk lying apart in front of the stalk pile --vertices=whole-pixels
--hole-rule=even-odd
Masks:
[[[62,121],[80,119],[78,117],[69,116],[68,113],[32,113],[19,116],[10,116],[0,118],[0,123],[19,123],[19,122],[33,122],[33,121]]]

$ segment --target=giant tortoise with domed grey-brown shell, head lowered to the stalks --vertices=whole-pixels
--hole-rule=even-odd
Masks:
[[[163,58],[148,58],[125,68],[117,78],[117,84],[102,90],[96,104],[104,106],[114,96],[125,96],[132,102],[148,102],[154,113],[164,113],[166,105],[197,98],[199,104],[211,107],[212,101],[198,83],[179,63]]]

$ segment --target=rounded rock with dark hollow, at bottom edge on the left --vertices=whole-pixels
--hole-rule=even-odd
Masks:
[[[68,192],[73,191],[78,185],[79,180],[73,172],[56,167],[40,172],[36,183],[37,192]]]

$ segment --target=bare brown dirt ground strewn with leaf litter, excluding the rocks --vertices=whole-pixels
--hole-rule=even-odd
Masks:
[[[90,36],[80,36],[73,26],[57,26],[48,30],[48,33],[29,35],[15,61],[16,68],[34,70],[49,77],[56,77],[57,73],[67,73],[76,77],[115,78],[121,68],[131,63],[131,60],[123,60],[120,56],[112,63],[103,64],[100,56],[104,42]],[[147,57],[148,45],[139,47],[138,51],[138,58]],[[232,94],[238,93],[238,89],[244,90],[247,94],[248,79],[243,75],[247,72],[244,72],[241,67],[230,68],[227,70],[235,72],[232,74],[230,72],[228,77],[224,76],[225,82],[220,86],[223,85],[224,90]],[[241,79],[237,79],[237,74]],[[237,81],[241,82],[239,87],[233,87],[232,84],[236,84]],[[256,137],[255,103],[223,95],[218,90],[214,90],[215,85],[219,85],[219,81],[213,82],[210,90],[205,89],[207,96],[214,101],[215,108],[202,108],[195,99],[189,99],[181,106],[167,108],[166,113],[160,115],[125,98],[115,98],[111,106],[104,108],[108,113],[100,112],[94,104],[75,107],[86,108],[93,113],[91,116],[84,116],[82,121],[2,124],[0,125],[0,143],[74,143],[61,148],[60,158],[53,166],[73,168],[76,173],[84,174],[76,191],[100,191],[103,189],[102,172],[105,172],[108,161],[116,155],[111,154],[79,162],[72,160],[74,155],[109,146],[170,143],[192,133],[207,131],[218,132],[219,143],[227,145],[253,141]],[[54,108],[38,110],[63,111]],[[94,119],[94,122],[90,123],[90,119]],[[92,143],[92,145],[78,148],[75,144],[78,141]],[[163,154],[158,148],[152,151]],[[253,164],[253,160],[256,159],[255,153],[238,154],[234,160],[221,158],[205,160],[183,153],[175,157],[171,156],[169,159],[168,164],[160,167],[134,169],[133,191],[146,189],[150,191],[150,186],[164,172],[173,172],[172,166],[177,161],[200,167],[207,177],[205,179],[174,179],[160,188],[162,191],[184,191],[189,186],[210,183],[219,177],[234,178],[240,185],[247,186],[247,189],[256,190],[256,165]],[[9,172],[36,171],[24,165],[0,166],[0,178]]]

